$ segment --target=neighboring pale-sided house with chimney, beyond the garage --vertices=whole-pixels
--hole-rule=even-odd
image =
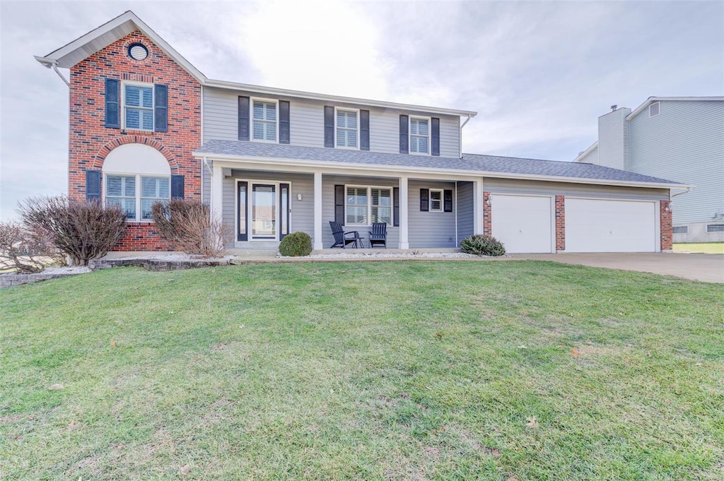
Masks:
[[[724,97],[649,97],[634,111],[613,108],[575,160],[694,185],[672,193],[674,242],[724,242]]]

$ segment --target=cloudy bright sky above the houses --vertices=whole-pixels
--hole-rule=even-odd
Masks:
[[[568,161],[614,103],[724,95],[722,1],[0,0],[2,220],[67,191],[67,87],[33,55],[127,9],[210,78],[478,111],[471,153]]]

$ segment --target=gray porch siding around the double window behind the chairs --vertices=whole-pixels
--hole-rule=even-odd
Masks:
[[[329,249],[334,244],[332,229],[329,221],[334,221],[334,186],[335,185],[361,185],[371,187],[397,187],[397,179],[384,179],[381,177],[353,177],[323,175],[321,178],[321,232],[322,244]],[[313,223],[313,218],[312,218]],[[360,237],[365,238],[365,247],[369,247],[369,226],[344,226],[345,231],[358,231]],[[387,249],[400,247],[400,228],[387,226]],[[375,247],[376,248],[376,247]]]

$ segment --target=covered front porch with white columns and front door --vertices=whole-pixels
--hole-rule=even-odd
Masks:
[[[330,221],[357,231],[368,249],[371,224],[384,222],[387,250],[405,252],[455,250],[482,233],[481,177],[222,159],[205,159],[204,169],[203,196],[231,231],[227,247],[240,252],[276,251],[296,231],[309,234],[313,250],[327,252],[334,244]]]

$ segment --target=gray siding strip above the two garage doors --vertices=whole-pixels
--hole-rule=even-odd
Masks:
[[[594,184],[569,184],[568,182],[542,182],[536,180],[483,179],[485,192],[494,194],[565,195],[628,200],[667,200],[667,189],[643,187],[616,187]]]

